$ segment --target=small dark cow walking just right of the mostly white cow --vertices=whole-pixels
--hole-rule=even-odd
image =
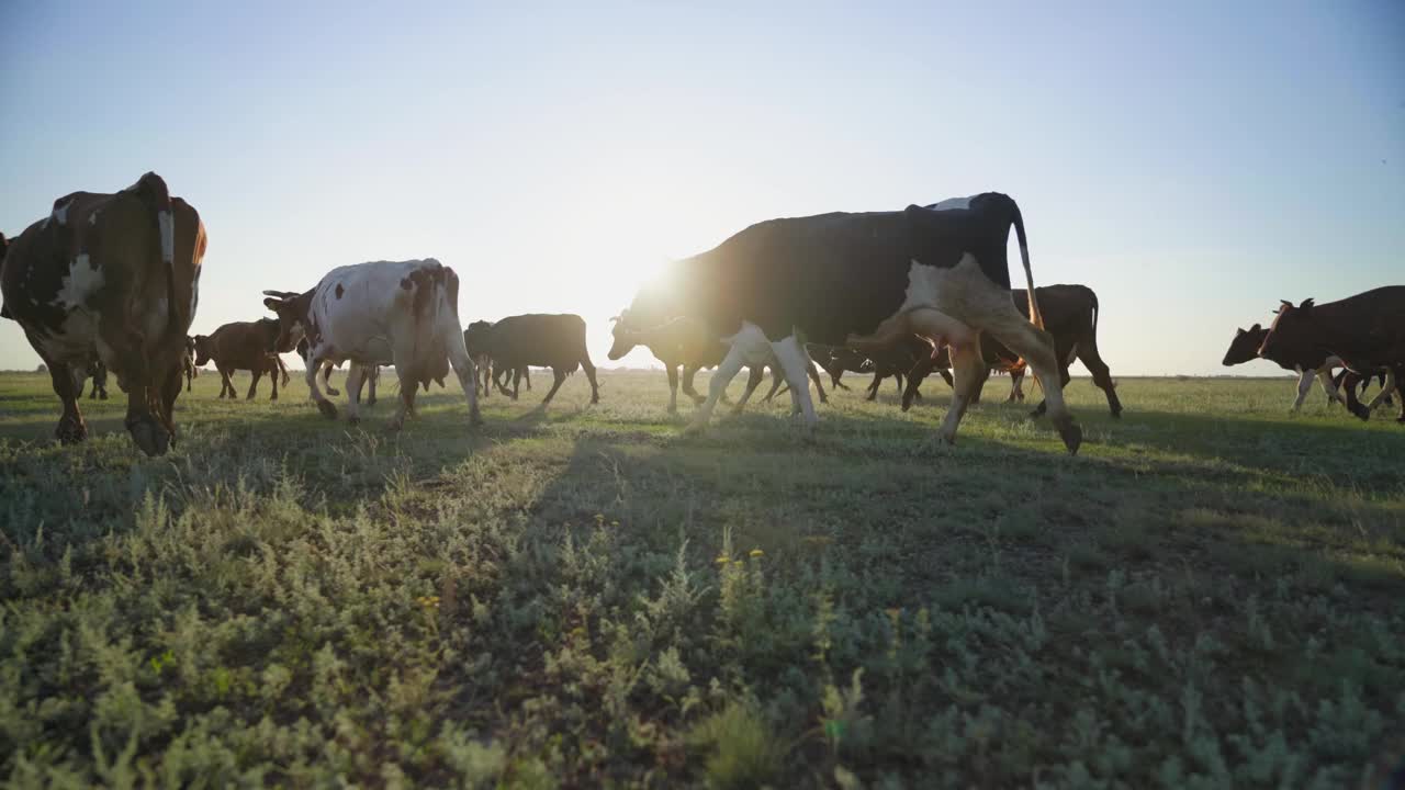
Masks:
[[[513,391],[496,377],[489,377],[499,392],[513,401],[518,395],[518,384],[527,365],[549,367],[554,381],[542,405],[551,403],[561,389],[566,375],[580,367],[590,381],[590,402],[600,402],[600,387],[596,384],[596,365],[586,350],[586,322],[575,313],[527,313],[511,315],[496,323],[475,320],[464,330],[464,344],[475,357],[488,357],[495,370],[509,370],[513,374]],[[488,384],[485,382],[485,387]]]

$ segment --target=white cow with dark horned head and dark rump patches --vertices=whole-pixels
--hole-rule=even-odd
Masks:
[[[452,365],[468,401],[469,425],[482,425],[473,387],[473,360],[464,347],[458,319],[458,274],[434,259],[372,261],[329,271],[312,290],[264,291],[264,306],[278,315],[278,346],[306,339],[303,375],[323,416],[337,408],[318,387],[326,361],[351,361],[347,371],[347,420],[360,422],[361,381],[370,365],[393,364],[400,406],[389,429],[400,430],[414,395],[441,368]],[[447,361],[447,363],[445,363]]]

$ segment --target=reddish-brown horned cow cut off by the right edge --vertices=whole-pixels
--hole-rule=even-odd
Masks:
[[[1395,381],[1405,380],[1405,285],[1374,288],[1325,305],[1304,299],[1298,306],[1283,301],[1269,328],[1259,356],[1290,364],[1307,356],[1333,356],[1359,377],[1390,370]],[[1371,409],[1356,395],[1354,382],[1346,389],[1346,408],[1367,420]],[[1401,415],[1405,423],[1405,398]]]

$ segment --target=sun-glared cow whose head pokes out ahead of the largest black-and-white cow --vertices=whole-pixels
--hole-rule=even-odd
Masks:
[[[614,328],[611,329],[613,343],[608,357],[618,360],[632,351],[635,346],[649,349],[655,358],[663,363],[669,374],[669,413],[673,415],[679,410],[680,368],[683,394],[691,398],[694,405],[701,403],[705,398],[693,388],[693,380],[700,370],[717,367],[726,356],[726,346],[718,337],[711,336],[701,322],[684,315],[670,315],[676,308],[663,306],[662,302],[655,302],[653,297],[655,294],[641,292],[629,308],[611,319]],[[771,389],[763,401],[770,402],[776,396],[777,389],[784,382],[780,364],[770,358],[762,364],[747,365],[750,373],[746,389],[742,399],[732,406],[733,413],[746,408],[752,394],[763,381],[767,365],[771,367],[773,381]],[[813,364],[806,368],[806,374],[819,391],[819,401],[828,403],[829,395],[825,392],[825,385],[821,384],[819,371]],[[798,402],[792,401],[792,406],[795,403]]]

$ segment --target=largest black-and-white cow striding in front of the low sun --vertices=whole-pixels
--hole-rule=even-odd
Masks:
[[[1033,322],[1020,315],[1007,291],[1012,226]],[[1068,450],[1076,453],[1082,441],[1082,429],[1064,403],[1054,342],[1041,329],[1024,221],[1007,195],[762,222],[712,250],[674,261],[667,281],[687,294],[691,315],[731,344],[693,430],[707,425],[742,365],[763,363],[770,354],[812,426],[816,416],[805,387],[804,340],[865,350],[920,335],[953,349],[955,394],[939,432],[953,443],[985,373],[979,340],[989,332],[1028,360],[1045,384],[1050,417]]]

